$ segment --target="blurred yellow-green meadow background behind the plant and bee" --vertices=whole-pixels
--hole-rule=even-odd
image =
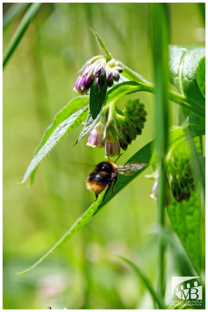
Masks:
[[[3,14],[11,3],[3,4]],[[3,30],[5,50],[24,13]],[[197,3],[171,4],[171,43],[205,46]],[[85,188],[91,168],[104,160],[104,149],[75,147],[82,126],[42,161],[34,184],[18,185],[44,130],[69,100],[76,72],[102,54],[92,27],[115,59],[153,81],[147,3],[43,3],[3,73],[3,308],[4,309],[151,309],[152,300],[133,272],[110,255],[126,256],[156,283],[156,201],[145,170],[64,246],[25,275],[31,266],[89,207],[94,195]],[[173,89],[174,90],[174,89]],[[146,104],[141,137],[128,147],[119,165],[154,138],[154,96],[125,96]],[[177,104],[170,103],[177,125]],[[168,220],[167,220],[168,222]],[[168,222],[169,224],[169,222]],[[168,225],[171,227],[170,225]],[[167,302],[174,255],[167,252]],[[169,295],[168,295],[169,290]]]

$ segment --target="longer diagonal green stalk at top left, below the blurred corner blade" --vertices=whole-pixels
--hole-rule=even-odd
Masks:
[[[3,53],[3,68],[7,64],[7,61],[12,56],[14,50],[18,46],[19,42],[21,41],[24,33],[26,32],[28,26],[31,23],[31,20],[36,15],[39,7],[41,6],[41,2],[32,3],[27,12],[25,13],[22,21],[20,22],[19,26],[17,27],[16,32],[12,36],[6,50]]]

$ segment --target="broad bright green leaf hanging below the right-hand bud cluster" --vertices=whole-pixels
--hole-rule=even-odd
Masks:
[[[167,212],[197,274],[201,270],[201,202],[199,190],[191,192],[188,202],[171,199]]]

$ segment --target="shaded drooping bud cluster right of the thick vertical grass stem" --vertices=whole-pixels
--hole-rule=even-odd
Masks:
[[[178,202],[188,201],[191,191],[196,189],[189,158],[184,158],[184,155],[174,150],[167,165],[167,178],[173,197]]]

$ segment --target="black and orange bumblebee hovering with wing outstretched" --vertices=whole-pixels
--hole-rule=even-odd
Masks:
[[[119,159],[119,157],[116,159],[116,161]],[[123,166],[118,166],[115,162],[111,160],[102,161],[89,174],[89,177],[86,180],[86,188],[89,191],[95,193],[96,200],[97,200],[98,195],[101,192],[103,192],[104,189],[107,187],[104,198],[103,198],[103,202],[104,202],[105,197],[112,184],[113,184],[113,188],[112,188],[112,193],[113,193],[114,185],[118,178],[118,173],[126,175],[126,176],[133,175],[136,171],[144,168],[146,165],[147,163],[140,163],[138,161],[133,161],[130,163],[126,163]]]

